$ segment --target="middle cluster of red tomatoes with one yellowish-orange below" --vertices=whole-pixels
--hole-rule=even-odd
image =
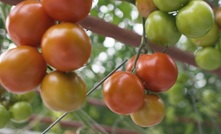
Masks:
[[[165,104],[157,93],[174,85],[178,69],[165,53],[136,57],[128,61],[126,71],[115,72],[104,82],[103,97],[113,112],[130,115],[137,125],[149,127],[164,118]]]

